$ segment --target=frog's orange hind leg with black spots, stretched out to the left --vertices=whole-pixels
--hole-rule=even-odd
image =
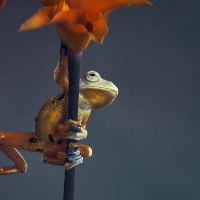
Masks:
[[[65,146],[65,141],[62,141],[60,144],[50,143],[38,139],[35,133],[0,132],[0,150],[14,162],[13,166],[0,166],[0,174],[26,172],[26,161],[15,148],[25,151],[56,154],[59,151],[64,151]]]

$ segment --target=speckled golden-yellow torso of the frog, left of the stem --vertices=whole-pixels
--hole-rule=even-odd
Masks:
[[[57,143],[61,139],[59,138],[59,134],[57,134],[58,125],[63,124],[64,118],[66,117],[66,99],[58,101],[54,97],[47,100],[36,118],[36,136],[45,141]]]

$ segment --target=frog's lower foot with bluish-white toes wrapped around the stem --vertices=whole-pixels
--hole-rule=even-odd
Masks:
[[[58,158],[59,159],[66,159],[68,160],[67,163],[64,164],[64,167],[66,170],[69,170],[73,168],[74,166],[80,164],[83,162],[83,157],[80,155],[80,151],[77,148],[77,143],[70,143],[69,149],[67,149],[67,152],[58,152]]]

